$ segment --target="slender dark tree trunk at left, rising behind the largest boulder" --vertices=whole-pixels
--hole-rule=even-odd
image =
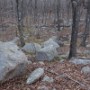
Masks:
[[[16,0],[16,8],[17,8],[17,19],[18,19],[18,31],[19,31],[19,37],[21,46],[25,45],[24,37],[23,37],[23,11],[22,11],[22,0]]]

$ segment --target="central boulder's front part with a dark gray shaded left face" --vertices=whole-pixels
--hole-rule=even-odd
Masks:
[[[57,56],[58,56],[58,52],[56,50],[56,47],[54,47],[53,45],[49,45],[47,47],[40,49],[36,53],[36,60],[51,61],[54,59],[54,57],[57,57]]]

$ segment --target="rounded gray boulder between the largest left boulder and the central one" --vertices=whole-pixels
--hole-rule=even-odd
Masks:
[[[26,43],[26,45],[22,48],[26,53],[36,53],[41,49],[41,46],[37,43]]]

